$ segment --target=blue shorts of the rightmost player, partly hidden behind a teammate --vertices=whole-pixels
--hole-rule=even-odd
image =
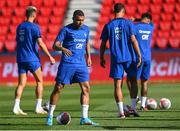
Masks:
[[[142,61],[137,69],[137,79],[148,80],[150,78],[151,61]]]

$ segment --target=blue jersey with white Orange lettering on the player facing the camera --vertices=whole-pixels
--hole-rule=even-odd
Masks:
[[[85,51],[89,41],[89,27],[82,25],[79,29],[74,29],[73,24],[69,24],[61,29],[56,41],[62,43],[64,48],[72,52],[72,56],[62,53],[61,62],[86,65]]]

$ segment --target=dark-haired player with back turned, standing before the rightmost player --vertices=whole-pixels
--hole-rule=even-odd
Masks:
[[[125,118],[123,111],[123,93],[122,82],[123,73],[126,71],[128,77],[131,80],[131,98],[132,98],[132,111],[134,116],[139,116],[136,111],[137,97],[137,84],[136,75],[132,66],[132,57],[130,49],[134,48],[138,56],[138,64],[141,64],[141,53],[139,50],[138,42],[135,38],[134,25],[132,21],[127,20],[124,17],[125,7],[121,3],[114,5],[115,18],[106,24],[101,34],[101,46],[100,46],[100,65],[105,68],[104,52],[106,49],[106,42],[110,43],[110,77],[114,79],[114,97],[117,103],[120,118]],[[132,41],[132,42],[129,42]],[[131,43],[131,44],[130,44]]]

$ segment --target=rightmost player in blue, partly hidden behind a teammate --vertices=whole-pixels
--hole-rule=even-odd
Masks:
[[[147,100],[148,80],[151,69],[151,39],[154,31],[152,16],[146,12],[142,14],[140,22],[135,23],[136,39],[139,43],[142,54],[142,64],[136,68],[137,79],[141,80],[141,110],[147,110],[145,103]],[[135,57],[134,57],[135,58]],[[130,81],[127,79],[128,88],[131,88]]]

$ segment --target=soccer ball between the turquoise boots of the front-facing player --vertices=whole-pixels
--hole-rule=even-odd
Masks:
[[[59,125],[68,125],[71,122],[71,116],[67,112],[61,112],[57,115],[56,120]]]

